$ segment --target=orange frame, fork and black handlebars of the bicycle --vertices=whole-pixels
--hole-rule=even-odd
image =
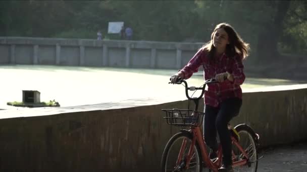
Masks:
[[[206,84],[207,83],[212,83],[212,82],[217,82],[215,79],[208,79],[205,81],[204,85],[202,88],[195,88],[195,87],[188,87],[187,86],[187,82],[185,80],[179,80],[177,82],[177,84],[181,84],[182,82],[185,83],[185,94],[186,94],[186,97],[189,99],[189,100],[193,100],[194,103],[195,103],[195,107],[194,107],[194,110],[197,111],[198,109],[198,101],[200,98],[202,98],[203,96],[203,93],[204,93],[204,89],[206,88]],[[188,95],[188,90],[202,90],[201,92],[201,95],[197,98],[190,98],[189,95]],[[202,157],[202,160],[204,161],[204,163],[206,164],[207,167],[209,167],[210,169],[212,169],[214,172],[218,172],[218,168],[221,166],[221,159],[222,159],[222,147],[221,145],[219,146],[219,154],[218,154],[218,159],[216,161],[211,161],[210,157],[209,157],[209,153],[207,151],[207,145],[206,143],[204,142],[204,138],[202,137],[202,133],[201,133],[201,129],[199,126],[193,126],[193,127],[190,127],[190,132],[193,133],[193,138],[192,138],[192,143],[189,147],[189,151],[188,151],[188,155],[186,156],[186,168],[189,167],[189,164],[190,164],[190,160],[191,160],[191,157],[193,156],[193,147],[194,145],[196,144],[196,142],[198,143],[199,145],[199,148],[200,148],[200,152],[201,152],[201,157]],[[245,152],[245,150],[243,150],[242,146],[238,143],[238,141],[233,137],[231,136],[231,140],[232,140],[232,144],[235,145],[239,151],[244,155],[245,159],[242,159],[242,160],[238,160],[238,161],[233,161],[233,167],[235,166],[240,166],[240,165],[244,165],[246,164],[249,159],[247,153]],[[180,161],[182,159],[182,155],[183,155],[183,150],[186,148],[186,140],[184,139],[183,142],[182,142],[182,145],[181,145],[181,148],[180,148],[180,151],[179,151],[179,155],[178,155],[178,158],[177,158],[177,161],[176,161],[176,166],[179,166],[180,164]],[[234,152],[232,151],[232,159],[234,160]]]

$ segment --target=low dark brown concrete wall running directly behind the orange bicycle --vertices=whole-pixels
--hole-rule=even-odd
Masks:
[[[83,106],[80,112],[40,108],[22,111],[33,117],[1,119],[0,171],[159,171],[163,148],[180,129],[165,123],[161,109],[185,108],[187,101],[121,104],[119,109]],[[244,93],[232,121],[239,123],[259,133],[262,146],[307,139],[307,89]]]

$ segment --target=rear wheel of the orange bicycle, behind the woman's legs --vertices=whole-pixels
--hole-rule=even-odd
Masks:
[[[258,152],[257,152],[257,144],[254,136],[254,132],[250,127],[247,125],[239,125],[236,128],[240,138],[238,143],[242,146],[243,150],[248,155],[249,159],[247,164],[235,166],[233,169],[234,171],[241,172],[241,171],[250,171],[255,172],[257,171],[258,167]],[[239,150],[236,145],[232,145],[233,150],[233,162],[239,161],[242,159],[246,159],[243,153]]]

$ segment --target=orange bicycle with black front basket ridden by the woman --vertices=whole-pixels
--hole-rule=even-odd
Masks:
[[[163,109],[166,112],[164,117],[168,124],[183,127],[168,141],[162,155],[162,171],[202,171],[207,167],[209,171],[217,172],[222,165],[222,146],[219,145],[218,157],[210,159],[208,147],[204,142],[200,125],[203,119],[203,112],[197,111],[198,102],[204,94],[206,84],[218,82],[214,78],[204,82],[202,87],[188,87],[183,79],[177,84],[185,85],[185,94],[188,100],[195,104],[194,110],[188,109]],[[201,90],[199,97],[191,98],[189,91]],[[185,129],[184,127],[189,127]],[[234,171],[257,171],[258,167],[258,146],[259,135],[246,124],[239,124],[232,128],[228,124],[232,140],[232,166]]]

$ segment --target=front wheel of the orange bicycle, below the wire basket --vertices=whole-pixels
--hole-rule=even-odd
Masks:
[[[165,146],[161,168],[163,172],[185,171],[200,172],[202,170],[201,152],[197,143],[193,146],[189,167],[186,168],[186,158],[192,143],[192,134],[180,132],[175,134]]]

